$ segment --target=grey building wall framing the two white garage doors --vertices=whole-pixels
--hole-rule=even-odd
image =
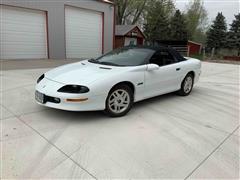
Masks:
[[[0,4],[37,9],[47,12],[48,53],[51,59],[65,59],[65,6],[74,6],[104,13],[104,49],[106,53],[113,49],[114,6],[97,0],[1,0]],[[24,19],[23,19],[24,21]]]

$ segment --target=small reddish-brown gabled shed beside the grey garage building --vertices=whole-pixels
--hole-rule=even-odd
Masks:
[[[129,45],[143,45],[145,36],[137,25],[117,25],[115,48]]]

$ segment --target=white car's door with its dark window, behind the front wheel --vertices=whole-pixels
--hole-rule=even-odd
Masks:
[[[159,69],[145,72],[145,96],[153,97],[180,89],[181,62],[178,62],[168,49],[157,51],[149,60]]]

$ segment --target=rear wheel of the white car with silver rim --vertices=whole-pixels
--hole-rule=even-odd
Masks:
[[[177,94],[180,96],[188,96],[192,92],[193,84],[194,76],[189,73],[183,79],[181,89],[177,92]]]

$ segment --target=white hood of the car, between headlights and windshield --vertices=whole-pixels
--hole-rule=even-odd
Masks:
[[[87,85],[106,76],[111,77],[110,75],[119,73],[119,69],[124,68],[94,64],[85,60],[52,69],[45,73],[45,77],[63,84]]]

